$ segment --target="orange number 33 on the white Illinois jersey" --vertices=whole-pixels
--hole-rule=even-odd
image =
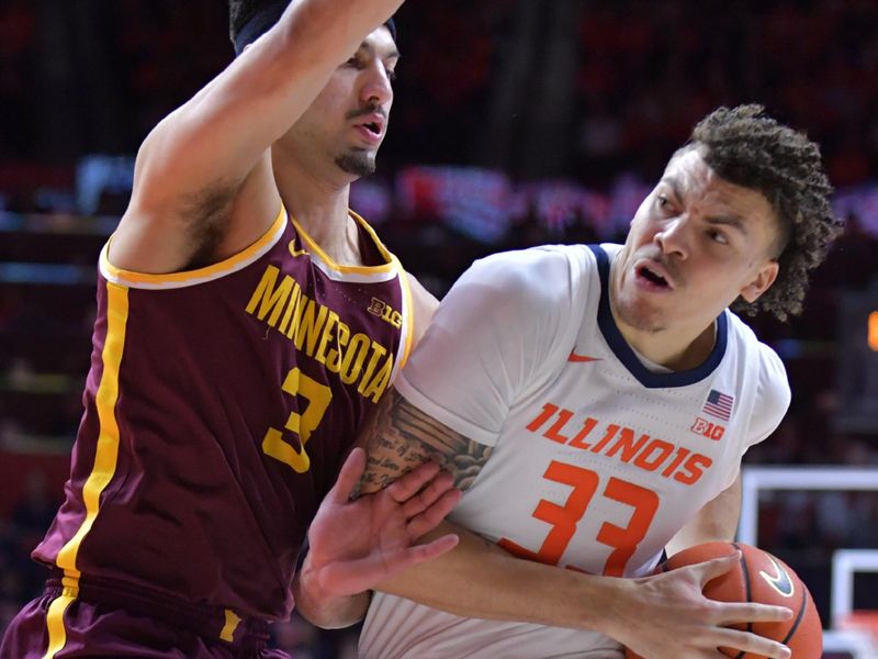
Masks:
[[[537,504],[533,516],[541,522],[552,525],[552,529],[543,540],[539,551],[531,551],[508,538],[498,543],[500,547],[529,560],[556,566],[564,555],[576,524],[585,515],[588,504],[597,491],[600,478],[590,469],[583,469],[574,465],[553,460],[545,470],[543,478],[573,488],[564,505],[559,505],[544,499]],[[624,567],[633,556],[638,544],[646,536],[650,524],[658,510],[658,495],[652,490],[646,490],[634,483],[629,483],[611,477],[603,495],[631,506],[633,512],[624,528],[605,522],[597,534],[597,541],[614,548],[604,567],[604,574],[621,577]]]

